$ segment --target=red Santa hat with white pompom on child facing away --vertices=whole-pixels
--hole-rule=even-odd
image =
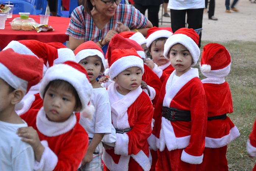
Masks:
[[[209,43],[203,47],[200,70],[202,74],[214,72],[216,77],[227,76],[230,72],[231,57],[228,50],[218,43]]]

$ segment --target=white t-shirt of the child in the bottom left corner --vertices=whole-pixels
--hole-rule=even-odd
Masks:
[[[32,171],[35,164],[33,148],[16,134],[24,124],[11,124],[0,121],[0,170]]]

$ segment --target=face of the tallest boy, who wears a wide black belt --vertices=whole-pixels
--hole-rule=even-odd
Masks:
[[[171,47],[168,54],[171,65],[176,70],[176,75],[181,76],[190,69],[192,64],[192,56],[188,49],[182,44],[175,44]]]

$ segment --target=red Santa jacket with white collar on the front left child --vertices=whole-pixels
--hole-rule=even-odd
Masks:
[[[21,118],[39,135],[45,151],[35,170],[76,171],[86,153],[89,137],[74,114],[65,122],[51,122],[43,108],[29,110]]]

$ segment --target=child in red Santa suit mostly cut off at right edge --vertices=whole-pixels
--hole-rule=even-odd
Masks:
[[[247,140],[246,150],[251,158],[256,156],[256,120],[254,121],[252,132],[250,133],[249,139]],[[256,171],[256,165],[252,171]]]

